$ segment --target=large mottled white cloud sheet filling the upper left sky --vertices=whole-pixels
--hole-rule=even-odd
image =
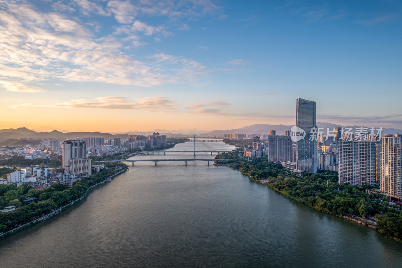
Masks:
[[[115,2],[109,2],[110,9],[116,6],[115,12],[120,14],[120,5],[127,4]],[[28,84],[50,79],[136,86],[197,83],[209,73],[203,64],[180,56],[157,53],[140,61],[126,55],[123,48],[147,44],[132,33],[131,25],[117,29],[128,34],[124,39],[116,35],[95,37],[85,27],[87,24],[77,18],[42,13],[24,3],[5,2],[3,6],[4,10],[0,10],[0,80],[20,83],[20,86],[8,86],[14,90],[39,91]],[[171,34],[162,27],[140,21],[132,25],[145,35]]]

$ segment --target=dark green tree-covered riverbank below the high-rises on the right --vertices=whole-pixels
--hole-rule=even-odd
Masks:
[[[234,163],[229,164],[233,169],[248,176],[251,181],[266,184],[271,190],[298,203],[375,228],[378,232],[401,241],[402,213],[388,205],[387,197],[365,192],[366,189],[373,188],[372,186],[338,184],[337,172],[331,171],[320,170],[314,174],[295,175],[282,165],[269,162],[267,157],[248,161],[238,154],[239,151],[225,153],[216,159],[233,159]]]

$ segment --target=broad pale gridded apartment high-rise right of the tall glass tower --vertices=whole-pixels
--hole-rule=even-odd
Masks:
[[[339,141],[338,182],[361,186],[375,183],[375,142]]]

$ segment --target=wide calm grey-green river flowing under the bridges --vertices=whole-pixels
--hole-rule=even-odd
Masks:
[[[191,150],[186,142],[170,150]],[[197,150],[230,150],[220,142]],[[195,156],[213,158],[210,153]],[[193,159],[192,153],[132,159]],[[1,267],[401,267],[402,243],[206,162],[138,162],[0,240]]]

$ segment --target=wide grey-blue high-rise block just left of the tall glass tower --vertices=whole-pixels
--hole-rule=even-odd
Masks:
[[[271,130],[272,133],[272,130]],[[268,136],[268,161],[282,163],[291,161],[292,141],[290,136]]]

